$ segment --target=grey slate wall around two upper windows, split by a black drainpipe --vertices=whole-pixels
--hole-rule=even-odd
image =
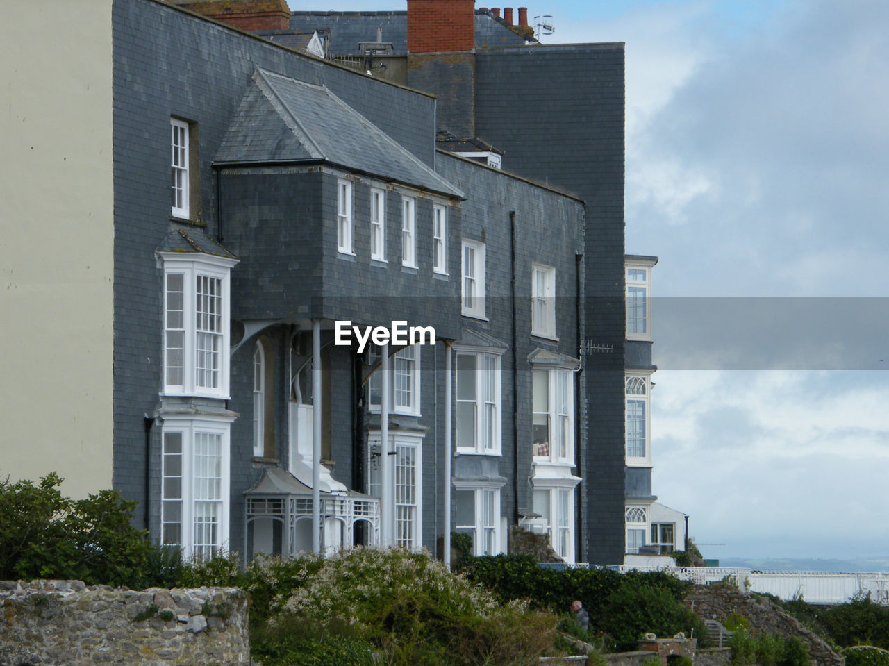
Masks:
[[[467,201],[461,205],[463,237],[485,243],[485,316],[488,321],[462,317],[463,325],[487,333],[509,346],[501,359],[502,455],[496,464],[501,476],[509,479],[501,490],[501,513],[509,518],[509,524],[514,525],[517,510],[530,509],[533,504],[528,482],[532,475],[533,455],[531,366],[527,357],[538,348],[577,357],[578,265],[575,257],[583,248],[583,205],[573,197],[444,153],[438,156],[437,171],[466,193]],[[514,243],[510,239],[510,212],[515,213]],[[513,246],[515,267],[510,263]],[[558,341],[531,335],[533,261],[556,269]],[[515,301],[510,295],[513,277],[516,280]],[[513,307],[517,309],[515,330]],[[581,377],[575,375],[575,381],[581,390],[579,402],[582,405],[585,392]],[[465,457],[469,456],[461,456]],[[475,461],[458,460],[454,465],[455,477],[461,473],[470,474],[477,468],[480,466]],[[579,558],[581,552],[578,550]]]

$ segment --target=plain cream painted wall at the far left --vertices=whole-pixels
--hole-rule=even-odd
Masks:
[[[0,477],[111,487],[111,0],[4,2]]]

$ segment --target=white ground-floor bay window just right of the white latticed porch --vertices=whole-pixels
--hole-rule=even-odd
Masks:
[[[382,469],[380,464],[383,462],[383,456],[380,453],[380,431],[371,432],[367,436],[367,490],[372,497],[382,498]],[[422,547],[422,525],[423,525],[423,437],[418,435],[409,435],[405,433],[395,433],[389,435],[389,451],[395,452],[390,456],[392,459],[393,473],[392,479],[393,493],[392,498],[395,502],[394,515],[395,523],[393,529],[395,534],[394,544],[410,550],[420,550]],[[412,489],[408,489],[406,484],[401,484],[399,495],[399,479],[405,480],[404,469],[399,471],[399,461],[404,461],[404,456],[410,452],[413,457],[413,475]],[[409,496],[405,497],[405,491]],[[405,501],[406,500],[406,501]],[[411,524],[409,526],[409,534],[398,534],[399,509],[402,516],[405,513],[410,514]]]

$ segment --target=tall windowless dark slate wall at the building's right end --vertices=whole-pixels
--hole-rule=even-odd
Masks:
[[[585,358],[589,423],[587,558],[624,552],[624,47],[548,45],[477,52],[477,135],[503,168],[587,203]],[[541,128],[545,127],[545,132]]]

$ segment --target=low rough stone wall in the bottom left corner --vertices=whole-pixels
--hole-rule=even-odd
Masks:
[[[246,594],[0,582],[0,666],[103,663],[249,664]]]

